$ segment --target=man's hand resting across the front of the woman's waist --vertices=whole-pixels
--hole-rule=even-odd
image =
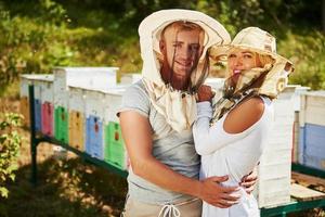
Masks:
[[[238,203],[239,193],[235,193],[238,187],[223,187],[221,182],[226,181],[227,176],[209,177],[202,180],[202,190],[199,197],[220,208],[227,208]]]

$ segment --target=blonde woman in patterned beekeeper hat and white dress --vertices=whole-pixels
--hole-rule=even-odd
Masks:
[[[272,100],[284,89],[291,64],[275,52],[275,38],[248,27],[239,31],[227,51],[230,77],[223,98],[211,105],[210,87],[198,91],[194,141],[202,155],[200,179],[229,175],[225,186],[257,166],[273,122]],[[243,188],[239,203],[219,208],[204,203],[203,216],[259,216],[256,200]]]

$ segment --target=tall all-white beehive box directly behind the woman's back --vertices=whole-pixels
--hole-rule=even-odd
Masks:
[[[258,166],[256,194],[259,207],[290,201],[294,93],[295,87],[287,87],[273,102],[274,123]]]

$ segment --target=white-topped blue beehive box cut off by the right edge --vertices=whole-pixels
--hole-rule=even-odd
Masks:
[[[299,163],[325,170],[325,91],[301,95]]]

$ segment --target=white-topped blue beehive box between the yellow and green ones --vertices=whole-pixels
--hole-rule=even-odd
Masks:
[[[86,91],[86,152],[90,155],[104,158],[103,119],[104,93],[101,91]]]

